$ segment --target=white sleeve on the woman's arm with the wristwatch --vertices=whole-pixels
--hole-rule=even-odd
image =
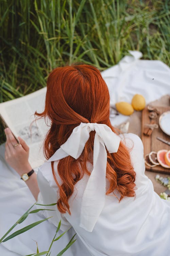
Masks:
[[[37,173],[37,182],[39,187],[39,194],[37,203],[39,204],[52,204],[56,203],[57,201],[57,190],[54,187],[51,187],[49,182],[44,177],[43,173],[41,172],[40,168]],[[51,217],[48,221],[54,224],[56,227],[61,220],[61,230],[66,231],[71,227],[71,224],[67,221],[67,219],[60,213],[57,209],[57,205],[53,206],[41,206],[36,205],[37,209],[52,209],[55,211],[40,211],[39,213],[43,214],[45,218]]]

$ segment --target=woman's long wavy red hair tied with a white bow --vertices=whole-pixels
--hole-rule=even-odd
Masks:
[[[75,65],[54,69],[47,80],[45,110],[35,112],[39,117],[48,117],[51,127],[46,135],[44,154],[49,159],[60,146],[66,142],[72,130],[80,123],[98,123],[108,125],[116,132],[109,120],[109,92],[100,71],[90,65]],[[54,180],[59,188],[60,198],[57,201],[61,213],[70,214],[68,200],[73,193],[74,185],[82,179],[84,173],[90,175],[86,162],[90,161],[89,153],[93,153],[95,131],[90,132],[82,155],[78,159],[71,156],[59,160],[58,174],[62,184],[54,172],[54,162],[51,162]],[[114,191],[123,197],[135,196],[135,176],[130,154],[125,145],[120,142],[117,153],[107,152],[106,178],[109,188],[106,195]]]

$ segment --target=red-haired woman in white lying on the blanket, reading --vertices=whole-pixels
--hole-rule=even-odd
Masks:
[[[170,205],[145,175],[140,138],[118,136],[111,126],[100,72],[88,65],[54,69],[45,110],[35,114],[51,120],[47,162],[26,184],[39,203],[57,202],[49,221],[57,226],[61,219],[63,231],[74,228],[77,244],[85,245],[77,255],[168,256]],[[20,176],[30,173],[28,146],[21,138],[18,145],[10,130],[5,134],[6,161]]]

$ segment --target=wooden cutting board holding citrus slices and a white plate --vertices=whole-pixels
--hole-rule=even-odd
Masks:
[[[169,111],[170,110],[170,106],[169,107],[164,107],[164,106],[155,106],[159,111],[160,111],[160,115],[162,113],[164,113],[165,111]],[[157,119],[155,119],[155,122],[159,125],[159,116],[157,117]],[[169,120],[170,122],[170,120]],[[145,108],[142,111],[142,127],[141,127],[141,139],[143,142],[143,146],[144,146],[144,156],[146,154],[149,154],[151,151],[159,151],[159,150],[170,150],[170,146],[165,144],[162,141],[159,141],[156,139],[156,137],[160,137],[164,140],[168,140],[170,141],[170,136],[167,135],[166,133],[164,133],[160,127],[158,127],[158,129],[154,129],[151,136],[146,136],[143,134],[143,130],[145,128],[145,124],[150,124],[150,118],[149,118],[149,111],[147,108]],[[146,170],[147,171],[152,171],[152,172],[159,172],[159,173],[165,173],[165,174],[170,174],[170,169],[168,168],[164,168],[160,165],[155,166],[155,167],[149,167],[146,165]]]

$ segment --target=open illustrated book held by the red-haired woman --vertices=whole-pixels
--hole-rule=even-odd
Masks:
[[[42,165],[46,159],[43,153],[44,139],[49,130],[49,120],[35,120],[34,113],[43,112],[47,88],[44,87],[29,95],[0,103],[0,117],[5,127],[9,127],[14,136],[20,136],[30,147],[29,162],[32,168]]]

